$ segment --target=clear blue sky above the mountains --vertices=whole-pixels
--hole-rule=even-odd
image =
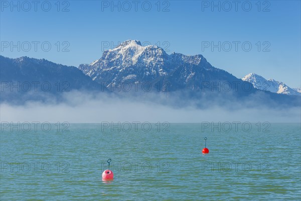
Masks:
[[[131,8],[126,11],[129,5],[123,2],[119,8],[111,8],[111,1],[61,1],[58,8],[57,1],[39,1],[35,11],[33,3],[29,8],[22,1],[14,1],[17,7],[11,1],[1,1],[1,55],[45,58],[78,66],[100,58],[105,41],[116,45],[135,39],[160,44],[168,53],[202,54],[213,66],[239,78],[254,72],[300,87],[300,1],[261,1],[260,4],[240,1],[237,8],[233,1],[229,1],[231,8],[227,3],[215,1],[214,4],[220,4],[220,11],[218,7],[212,8],[211,2],[161,1],[158,11],[158,1],[138,1],[136,8],[133,1],[127,1]],[[51,9],[46,12],[48,3]],[[118,5],[118,1],[114,4]],[[152,8],[147,12],[149,5]],[[64,8],[69,11],[62,12]],[[7,42],[18,46],[18,41],[20,52],[17,47],[12,51],[11,44],[6,47]],[[30,49],[26,41],[32,44]],[[37,51],[34,41],[40,42]],[[48,52],[41,47],[45,41],[51,44]],[[64,41],[67,43],[63,44]],[[212,51],[210,43],[218,45],[219,41],[221,51],[218,47]],[[233,41],[240,42],[237,51]],[[208,44],[210,47],[205,47]],[[247,52],[248,44],[252,48]],[[69,52],[63,52],[64,47]],[[48,48],[47,43],[44,48]]]

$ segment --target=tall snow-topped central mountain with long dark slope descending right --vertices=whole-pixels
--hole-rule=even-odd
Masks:
[[[124,41],[118,47],[104,51],[94,62],[81,64],[79,69],[102,87],[112,91],[117,86],[118,94],[122,94],[119,91],[123,83],[143,85],[147,82],[159,86],[153,87],[153,91],[169,92],[168,99],[162,103],[180,107],[188,102],[203,108],[216,104],[230,107],[300,105],[299,97],[256,89],[250,82],[215,68],[200,54],[169,55],[158,46],[142,46],[137,40]],[[135,93],[142,100],[149,99],[149,94]],[[129,93],[125,95],[129,96]]]

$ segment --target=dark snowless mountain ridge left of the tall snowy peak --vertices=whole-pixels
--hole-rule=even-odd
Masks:
[[[60,98],[71,90],[99,90],[100,85],[74,66],[45,59],[0,55],[1,101]]]

